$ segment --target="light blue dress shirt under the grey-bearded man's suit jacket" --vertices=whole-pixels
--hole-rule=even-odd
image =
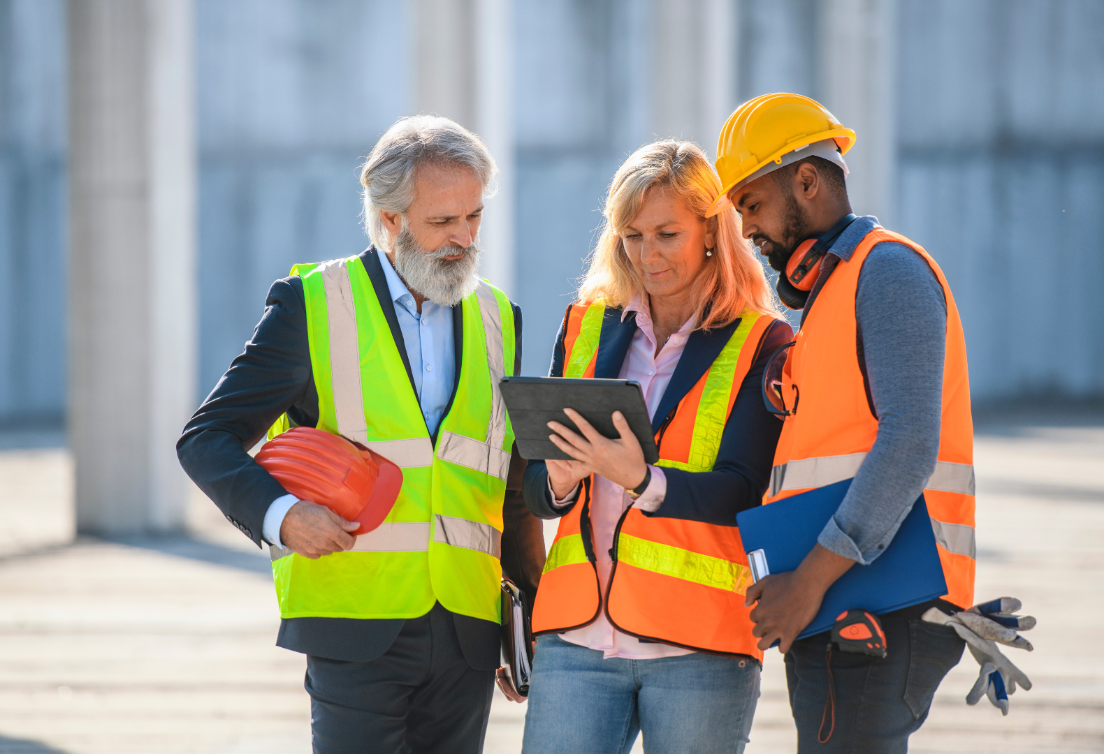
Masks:
[[[414,389],[425,424],[433,434],[445,413],[453,395],[456,378],[456,338],[453,336],[453,310],[428,299],[422,302],[418,313],[414,295],[391,266],[385,254],[380,252],[380,265],[388,280],[388,291],[395,304],[395,317],[403,333],[406,357],[414,376]],[[273,500],[265,511],[262,536],[268,542],[283,547],[279,528],[284,516],[299,502],[295,495],[284,495]]]

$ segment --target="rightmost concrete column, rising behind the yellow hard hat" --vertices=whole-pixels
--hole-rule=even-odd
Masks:
[[[853,128],[848,194],[859,215],[896,219],[896,0],[824,0],[821,103]]]

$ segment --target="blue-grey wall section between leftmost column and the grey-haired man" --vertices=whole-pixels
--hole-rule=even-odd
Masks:
[[[388,0],[199,0],[200,392],[300,261],[358,254],[357,166],[407,112]]]

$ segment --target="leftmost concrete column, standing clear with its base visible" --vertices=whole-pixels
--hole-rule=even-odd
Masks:
[[[184,524],[195,401],[192,0],[70,0],[70,443],[77,530]]]

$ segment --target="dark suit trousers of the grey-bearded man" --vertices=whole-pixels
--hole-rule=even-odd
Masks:
[[[371,663],[308,655],[306,688],[315,754],[478,754],[495,671],[468,665],[438,603]]]

